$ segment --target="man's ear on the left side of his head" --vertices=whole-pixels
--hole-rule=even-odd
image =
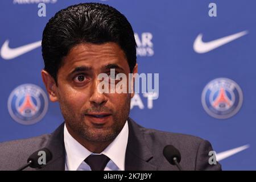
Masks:
[[[49,94],[49,100],[52,101],[52,102],[58,101],[57,86],[56,86],[55,80],[44,69],[41,71],[41,75],[42,75],[42,78],[43,78],[44,85],[46,86],[46,90]]]

